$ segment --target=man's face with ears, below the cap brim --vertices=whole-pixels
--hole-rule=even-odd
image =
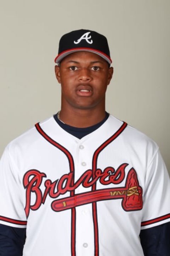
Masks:
[[[61,83],[62,107],[105,107],[105,93],[113,68],[109,68],[102,57],[88,51],[78,51],[66,56],[55,71]]]

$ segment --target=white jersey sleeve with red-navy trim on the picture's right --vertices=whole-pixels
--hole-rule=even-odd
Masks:
[[[148,165],[143,190],[141,229],[170,221],[170,178],[157,149]]]

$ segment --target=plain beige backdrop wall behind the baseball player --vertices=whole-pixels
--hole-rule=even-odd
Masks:
[[[60,109],[58,40],[85,28],[110,45],[107,111],[156,141],[170,171],[169,13],[169,0],[0,0],[0,155]]]

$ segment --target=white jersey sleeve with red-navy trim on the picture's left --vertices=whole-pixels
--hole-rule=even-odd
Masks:
[[[0,160],[0,223],[26,228],[22,180],[7,147]]]

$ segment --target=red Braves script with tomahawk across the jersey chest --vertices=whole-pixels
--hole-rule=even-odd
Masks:
[[[92,187],[97,181],[103,185],[119,184],[125,178],[125,168],[127,166],[128,164],[124,163],[121,164],[117,170],[113,167],[107,167],[103,171],[97,169],[95,176],[92,175],[92,170],[86,170],[74,184],[72,183],[73,173],[64,174],[60,179],[53,182],[50,179],[46,179],[43,194],[40,186],[46,174],[38,170],[29,170],[23,178],[23,185],[26,189],[26,215],[28,217],[30,209],[35,211],[41,204],[44,204],[47,195],[51,198],[57,198],[66,192],[74,191],[80,185]],[[32,194],[35,195],[35,202],[33,205],[30,205]],[[101,189],[65,197],[53,201],[51,208],[53,211],[63,211],[86,203],[116,198],[123,199],[122,207],[125,211],[133,211],[142,208],[142,188],[139,186],[137,174],[133,168],[131,168],[128,173],[125,187]]]

